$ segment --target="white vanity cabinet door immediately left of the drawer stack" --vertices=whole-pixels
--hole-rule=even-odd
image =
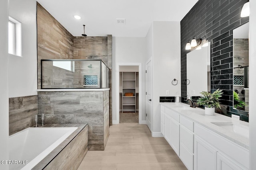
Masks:
[[[180,124],[171,119],[171,137],[170,145],[176,154],[180,155]]]

